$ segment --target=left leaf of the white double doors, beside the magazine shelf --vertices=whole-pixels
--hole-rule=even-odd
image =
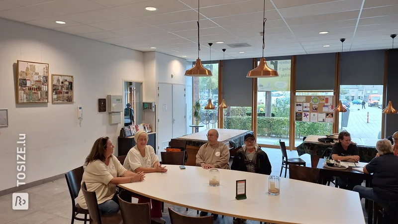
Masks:
[[[159,153],[169,146],[169,141],[173,138],[171,131],[173,127],[173,85],[159,83],[158,88],[158,129],[156,137],[158,139],[157,152]]]

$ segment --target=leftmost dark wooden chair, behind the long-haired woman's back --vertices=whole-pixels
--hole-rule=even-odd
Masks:
[[[89,215],[89,210],[82,209],[79,204],[75,203],[75,199],[79,195],[79,191],[81,188],[81,183],[83,179],[84,168],[83,166],[73,169],[65,174],[66,183],[68,184],[69,193],[71,194],[72,199],[72,223],[74,224],[75,220],[84,221],[87,224],[87,221],[90,222],[90,218],[87,218]],[[84,214],[83,218],[78,218],[78,214]]]

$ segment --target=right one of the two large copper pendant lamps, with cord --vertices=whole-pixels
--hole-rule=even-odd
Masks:
[[[264,10],[263,10],[263,57],[260,59],[260,64],[253,70],[247,73],[247,78],[271,78],[271,77],[279,77],[278,72],[274,69],[268,67],[267,62],[264,58],[264,48],[265,48],[265,0],[264,0]]]

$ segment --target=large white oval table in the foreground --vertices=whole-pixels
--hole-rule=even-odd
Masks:
[[[274,224],[365,224],[359,194],[281,178],[281,194],[268,195],[268,175],[220,171],[220,186],[208,184],[209,170],[166,165],[143,182],[119,186],[148,198],[229,217]],[[236,180],[246,180],[245,200],[236,200]]]

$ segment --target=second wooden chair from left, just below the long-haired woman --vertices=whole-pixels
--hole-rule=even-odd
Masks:
[[[119,213],[100,215],[96,192],[87,191],[86,182],[83,182],[82,191],[92,219],[90,224],[123,224]]]

